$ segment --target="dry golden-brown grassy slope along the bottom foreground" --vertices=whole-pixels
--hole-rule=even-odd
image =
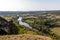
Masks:
[[[0,40],[52,40],[52,39],[50,37],[41,35],[20,34],[0,36]]]

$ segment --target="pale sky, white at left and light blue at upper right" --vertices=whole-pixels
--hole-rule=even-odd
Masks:
[[[0,0],[0,11],[60,10],[60,0]]]

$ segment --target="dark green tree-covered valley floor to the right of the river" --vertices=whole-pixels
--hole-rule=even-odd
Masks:
[[[51,36],[54,40],[59,39],[59,37],[53,33],[50,28],[58,27],[56,20],[57,19],[40,19],[39,17],[35,19],[23,19],[24,22],[29,23],[33,28],[47,34],[47,36]]]

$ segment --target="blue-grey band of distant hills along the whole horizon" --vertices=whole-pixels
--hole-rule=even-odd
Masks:
[[[53,11],[0,11],[0,15],[44,14],[44,13],[60,15],[60,10],[53,10]]]

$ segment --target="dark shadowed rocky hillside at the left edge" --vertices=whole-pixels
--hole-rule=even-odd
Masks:
[[[4,18],[0,17],[0,35],[16,34],[17,32],[14,31],[14,28],[16,28],[16,25],[14,25],[12,21],[8,22]]]

